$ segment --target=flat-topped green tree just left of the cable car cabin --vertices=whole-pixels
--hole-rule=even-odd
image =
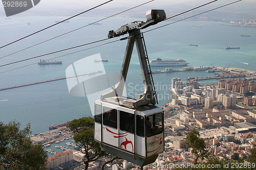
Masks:
[[[78,143],[80,151],[85,154],[83,160],[85,169],[88,169],[90,162],[106,155],[104,151],[101,151],[99,143],[94,140],[94,119],[92,117],[74,119],[68,128],[74,133],[73,139]]]

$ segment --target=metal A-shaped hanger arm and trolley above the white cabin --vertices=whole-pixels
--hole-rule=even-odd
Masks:
[[[155,105],[157,103],[156,91],[154,88],[154,81],[152,77],[152,72],[150,68],[150,63],[148,60],[146,46],[143,38],[143,34],[140,32],[141,29],[147,28],[151,25],[164,20],[166,15],[163,10],[150,10],[146,13],[147,21],[135,21],[130,24],[120,27],[115,32],[112,30],[109,32],[109,38],[118,37],[129,33],[129,37],[123,38],[127,40],[127,46],[124,54],[123,65],[121,69],[121,75],[119,78],[119,83],[113,87],[113,89],[105,94],[101,95],[101,101],[108,101],[111,103],[116,103],[121,106],[129,108],[139,108],[145,105]],[[121,99],[121,95],[124,89],[124,84],[127,77],[127,72],[129,70],[129,65],[132,57],[134,43],[136,43],[136,48],[138,52],[139,62],[141,66],[141,73],[144,82],[144,93],[138,95],[138,99]]]

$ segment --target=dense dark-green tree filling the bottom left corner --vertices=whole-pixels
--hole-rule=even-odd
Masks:
[[[28,137],[30,124],[23,130],[19,128],[16,122],[0,122],[0,169],[46,169],[47,153]]]

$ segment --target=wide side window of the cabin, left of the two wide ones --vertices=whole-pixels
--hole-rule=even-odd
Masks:
[[[103,107],[103,125],[117,129],[117,110]]]

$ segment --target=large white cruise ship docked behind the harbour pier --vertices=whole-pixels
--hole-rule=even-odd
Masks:
[[[185,60],[182,60],[182,59],[162,60],[158,58],[158,59],[150,60],[151,66],[182,66],[187,64],[189,63],[187,63]]]

